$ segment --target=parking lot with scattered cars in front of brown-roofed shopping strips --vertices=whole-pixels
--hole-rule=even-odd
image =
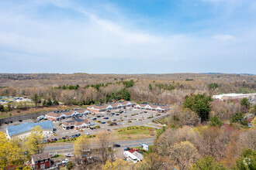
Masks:
[[[132,107],[126,108],[126,109],[119,109],[119,110],[111,110],[110,112],[101,112],[96,114],[88,114],[86,116],[80,117],[81,119],[87,118],[90,123],[94,123],[95,125],[92,125],[94,129],[90,128],[84,128],[81,130],[76,129],[69,129],[65,130],[61,127],[61,123],[64,121],[72,120],[70,119],[64,119],[63,121],[54,121],[54,129],[55,129],[55,135],[54,134],[48,134],[46,139],[52,139],[52,138],[62,138],[64,136],[71,136],[74,134],[88,134],[93,135],[96,134],[98,131],[102,131],[102,129],[110,129],[110,131],[113,128],[123,128],[123,127],[129,127],[129,126],[150,126],[153,128],[157,128],[157,126],[154,126],[153,123],[151,123],[152,120],[156,119],[157,117],[162,117],[166,113],[157,113],[155,111],[148,111],[148,110],[136,110]],[[92,120],[93,119],[93,120]],[[36,120],[25,120],[22,122],[13,122],[12,124],[8,125],[15,125],[15,124],[22,124],[26,122],[35,122]],[[115,123],[112,126],[110,123]],[[2,124],[0,130],[5,132],[7,124]],[[95,126],[100,126],[100,128],[95,128]]]

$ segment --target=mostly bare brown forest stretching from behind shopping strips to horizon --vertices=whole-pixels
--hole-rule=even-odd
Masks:
[[[254,93],[256,76],[242,74],[0,74],[0,96],[99,104],[135,100],[176,104],[191,93]]]

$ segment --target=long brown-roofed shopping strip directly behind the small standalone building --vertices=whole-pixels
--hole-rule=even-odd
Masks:
[[[91,111],[87,109],[59,110],[59,111],[50,112],[45,116],[50,121],[61,121],[67,118],[79,117],[89,113],[91,113]]]

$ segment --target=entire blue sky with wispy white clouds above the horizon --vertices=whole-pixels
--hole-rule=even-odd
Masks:
[[[0,73],[256,73],[254,0],[0,0]]]

